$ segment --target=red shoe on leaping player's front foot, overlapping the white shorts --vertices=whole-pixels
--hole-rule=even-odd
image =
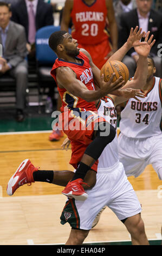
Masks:
[[[62,194],[64,194],[69,198],[75,198],[76,200],[85,201],[88,198],[88,194],[85,192],[84,188],[82,187],[82,184],[86,184],[86,183],[82,181],[83,181],[82,179],[69,181],[67,186],[62,191]]]

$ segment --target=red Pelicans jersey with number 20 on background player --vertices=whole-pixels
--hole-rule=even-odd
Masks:
[[[70,16],[74,25],[72,36],[79,44],[99,44],[108,39],[105,31],[106,0],[95,0],[91,5],[87,5],[84,0],[74,0]]]

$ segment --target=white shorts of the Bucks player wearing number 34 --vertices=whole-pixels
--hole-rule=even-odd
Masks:
[[[120,133],[118,151],[127,176],[138,177],[148,164],[152,164],[159,176],[162,168],[162,133],[144,139],[128,138]]]

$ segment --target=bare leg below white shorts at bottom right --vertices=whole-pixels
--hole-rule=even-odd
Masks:
[[[149,245],[141,214],[127,218],[124,224],[131,234],[132,245]]]

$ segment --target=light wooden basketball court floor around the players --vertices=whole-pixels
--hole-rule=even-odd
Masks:
[[[7,183],[19,164],[30,159],[42,170],[73,170],[70,149],[60,142],[50,142],[49,132],[0,133],[0,245],[64,244],[69,224],[61,225],[60,215],[66,202],[63,187],[45,182],[24,185],[14,196],[6,193]],[[148,239],[161,239],[162,182],[152,166],[134,179],[128,178],[142,204],[142,218]],[[114,213],[103,211],[100,222],[85,242],[130,240],[130,236]]]

